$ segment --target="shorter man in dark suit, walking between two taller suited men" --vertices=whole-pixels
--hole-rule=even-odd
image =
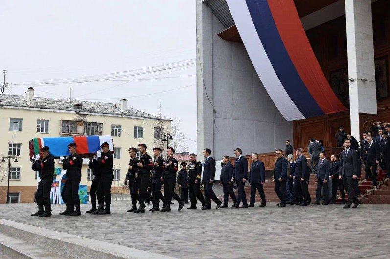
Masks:
[[[233,177],[234,167],[229,161],[229,156],[224,156],[221,163],[221,177],[219,179],[219,185],[223,186],[224,189],[224,205],[221,208],[227,208],[229,202],[229,194],[234,204],[237,202],[236,195],[233,190],[233,182],[231,178]]]

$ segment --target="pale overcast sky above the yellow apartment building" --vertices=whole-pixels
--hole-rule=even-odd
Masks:
[[[25,82],[62,82],[196,58],[194,0],[1,1],[0,24],[0,69],[7,70],[8,83],[20,84],[6,94],[23,95]],[[128,106],[154,115],[161,103],[165,117],[181,121],[188,151],[195,152],[196,68],[183,63],[112,81],[31,86],[39,97],[69,98],[69,87],[72,99],[115,103],[126,97]]]

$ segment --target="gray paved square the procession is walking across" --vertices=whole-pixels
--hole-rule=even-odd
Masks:
[[[162,204],[161,204],[162,205]],[[128,213],[35,218],[35,204],[0,204],[0,218],[178,258],[390,258],[390,206],[361,204]],[[229,204],[230,206],[231,204]],[[257,204],[259,205],[259,204]],[[151,205],[147,206],[147,209]]]

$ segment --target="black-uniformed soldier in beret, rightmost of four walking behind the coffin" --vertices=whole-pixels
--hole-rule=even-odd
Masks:
[[[171,200],[176,199],[179,202],[179,210],[183,209],[184,201],[175,193],[176,172],[178,171],[178,161],[173,157],[175,150],[168,147],[166,150],[165,171],[162,173],[161,180],[164,180],[165,204],[161,212],[171,211]]]

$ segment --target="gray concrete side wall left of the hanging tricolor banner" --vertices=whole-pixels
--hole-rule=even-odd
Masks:
[[[199,159],[203,161],[204,147],[212,149],[216,160],[232,156],[236,147],[245,155],[284,149],[285,140],[293,140],[292,122],[283,118],[268,96],[244,45],[217,35],[224,29],[209,8],[198,1]]]

